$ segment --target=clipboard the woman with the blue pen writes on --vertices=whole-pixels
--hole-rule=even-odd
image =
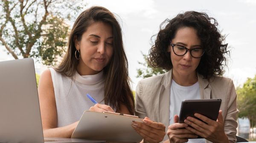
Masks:
[[[140,142],[143,138],[132,128],[134,121],[143,122],[143,119],[115,112],[84,111],[71,138]]]

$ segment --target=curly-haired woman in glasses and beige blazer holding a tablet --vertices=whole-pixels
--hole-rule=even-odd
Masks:
[[[160,25],[148,62],[169,71],[138,83],[135,112],[168,127],[166,143],[236,142],[236,91],[233,81],[222,77],[229,51],[217,25],[214,18],[196,11],[178,14]],[[195,114],[204,122],[189,117],[178,123],[183,100],[214,98],[222,100],[217,121]],[[136,124],[137,132],[149,135],[150,129]]]

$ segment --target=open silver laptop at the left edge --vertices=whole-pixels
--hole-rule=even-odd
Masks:
[[[104,140],[44,140],[34,61],[0,62],[0,143],[102,143]]]

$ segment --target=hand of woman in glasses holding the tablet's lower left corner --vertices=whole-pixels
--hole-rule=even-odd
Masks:
[[[174,123],[168,127],[167,135],[169,137],[170,143],[186,143],[189,138],[197,138],[193,132],[185,129],[188,126],[186,123],[178,123],[179,116],[174,116]]]

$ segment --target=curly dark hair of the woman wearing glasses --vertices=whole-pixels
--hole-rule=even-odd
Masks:
[[[166,25],[166,26],[165,26]],[[218,22],[206,13],[186,11],[178,14],[173,19],[166,19],[160,25],[157,39],[149,50],[148,62],[152,67],[161,67],[166,70],[172,69],[172,62],[168,47],[170,40],[175,38],[177,30],[183,27],[195,28],[197,36],[201,39],[204,55],[196,71],[205,79],[213,75],[222,75],[224,66],[227,65],[225,53],[229,54],[227,44],[224,44],[225,36],[222,36],[216,27]],[[151,37],[151,40],[154,38]],[[152,40],[153,41],[153,40]]]

